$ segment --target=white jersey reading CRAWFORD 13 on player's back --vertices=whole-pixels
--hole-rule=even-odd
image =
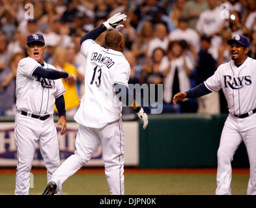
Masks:
[[[119,51],[85,40],[81,54],[87,59],[85,94],[74,120],[87,127],[101,128],[121,118],[122,103],[115,96],[114,83],[128,87],[130,64]]]

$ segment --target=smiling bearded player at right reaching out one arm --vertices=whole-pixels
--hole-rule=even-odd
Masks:
[[[248,151],[250,178],[247,194],[256,194],[256,60],[248,57],[249,40],[237,35],[228,40],[232,60],[221,64],[214,75],[187,92],[173,98],[177,103],[184,98],[198,98],[223,90],[229,116],[221,133],[218,149],[216,194],[231,194],[231,161],[239,144],[244,141]]]

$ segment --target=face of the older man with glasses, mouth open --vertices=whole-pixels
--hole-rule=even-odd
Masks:
[[[42,42],[31,42],[27,45],[27,54],[40,64],[44,63],[43,57],[46,52],[46,46]]]

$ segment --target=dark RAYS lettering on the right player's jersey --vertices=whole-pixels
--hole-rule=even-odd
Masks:
[[[232,77],[231,75],[224,75],[225,88],[230,87],[233,90],[238,90],[245,85],[251,85],[251,77],[249,75],[244,77]]]

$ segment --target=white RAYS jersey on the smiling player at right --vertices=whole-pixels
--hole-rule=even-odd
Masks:
[[[231,60],[221,64],[214,75],[206,79],[205,86],[214,92],[222,88],[230,114],[245,114],[256,109],[256,60],[247,58],[236,67]]]

